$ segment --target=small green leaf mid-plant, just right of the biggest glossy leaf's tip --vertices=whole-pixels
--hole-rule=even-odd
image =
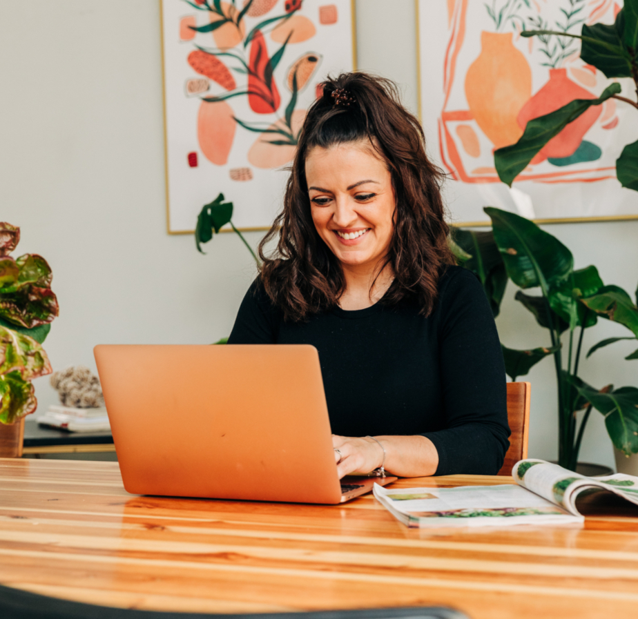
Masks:
[[[595,266],[587,266],[570,273],[568,279],[550,288],[550,305],[554,312],[565,320],[570,328],[588,328],[597,322],[597,315],[579,302],[581,297],[589,297],[603,287],[603,280]]]

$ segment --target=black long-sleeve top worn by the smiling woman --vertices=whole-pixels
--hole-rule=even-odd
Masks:
[[[319,351],[333,433],[427,436],[436,475],[494,475],[508,449],[505,367],[479,281],[452,266],[429,316],[414,300],[307,322],[284,321],[259,279],[240,306],[229,344],[312,344]]]

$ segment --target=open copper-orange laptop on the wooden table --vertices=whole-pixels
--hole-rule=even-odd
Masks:
[[[126,491],[337,504],[393,477],[338,479],[307,344],[99,345]]]

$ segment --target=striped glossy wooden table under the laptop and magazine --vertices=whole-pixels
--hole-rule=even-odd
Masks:
[[[454,475],[394,487],[511,483]],[[638,508],[583,527],[407,529],[342,506],[139,497],[117,462],[0,459],[0,582],[207,612],[445,605],[471,618],[632,617]]]

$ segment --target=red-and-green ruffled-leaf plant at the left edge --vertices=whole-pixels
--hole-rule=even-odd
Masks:
[[[58,315],[51,269],[43,257],[9,254],[20,228],[0,223],[0,457],[22,454],[24,417],[35,411],[31,381],[49,374],[41,344]]]

